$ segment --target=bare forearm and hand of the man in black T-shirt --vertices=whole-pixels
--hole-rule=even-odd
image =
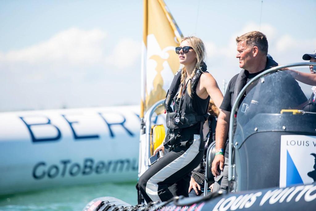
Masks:
[[[222,110],[218,116],[217,119],[217,125],[216,125],[216,133],[215,133],[215,140],[216,140],[216,152],[220,151],[220,149],[223,149],[225,152],[225,142],[227,140],[228,130],[229,130],[229,117],[230,117],[229,111]],[[215,155],[215,158],[212,163],[212,173],[214,176],[220,175],[217,171],[217,167],[219,165],[220,169],[223,171],[224,168],[224,155],[218,154]]]

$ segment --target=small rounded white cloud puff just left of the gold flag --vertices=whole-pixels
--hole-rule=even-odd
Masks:
[[[112,54],[105,59],[106,64],[118,68],[129,67],[140,59],[141,43],[132,39],[122,39],[114,47]]]

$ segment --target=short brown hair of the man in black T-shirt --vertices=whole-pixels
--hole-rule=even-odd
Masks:
[[[257,46],[258,49],[264,53],[268,54],[268,40],[267,37],[258,31],[248,32],[236,38],[237,44],[239,42],[246,42],[247,47]]]

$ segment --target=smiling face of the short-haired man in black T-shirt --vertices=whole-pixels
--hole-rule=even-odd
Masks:
[[[247,70],[253,63],[252,47],[247,47],[245,41],[241,41],[237,44],[237,55],[239,59],[239,67]]]

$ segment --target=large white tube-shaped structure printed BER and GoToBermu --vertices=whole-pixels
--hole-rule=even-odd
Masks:
[[[0,195],[136,181],[138,112],[125,106],[0,113]]]

